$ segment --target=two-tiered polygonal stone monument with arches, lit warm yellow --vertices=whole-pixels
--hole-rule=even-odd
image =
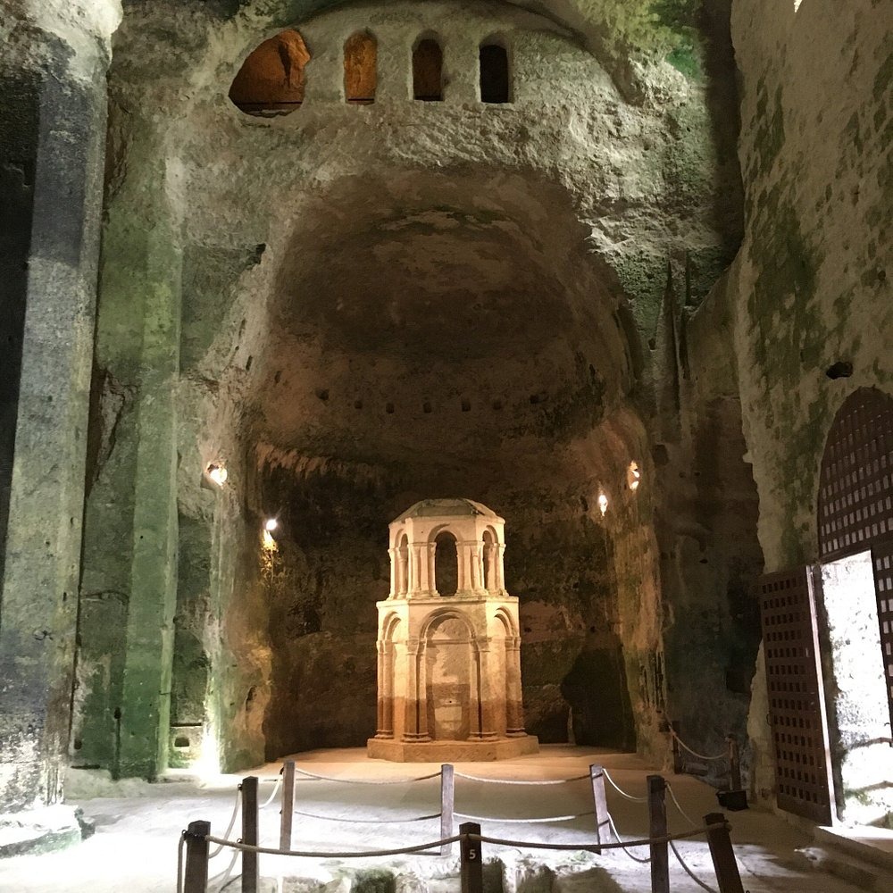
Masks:
[[[371,757],[439,763],[537,753],[538,740],[524,731],[504,529],[470,499],[424,499],[390,524]]]

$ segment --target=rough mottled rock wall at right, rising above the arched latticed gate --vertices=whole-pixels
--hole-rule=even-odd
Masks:
[[[855,388],[893,388],[889,24],[889,4],[872,0],[733,5],[747,226],[730,280],[768,571],[816,555],[818,474],[839,405]],[[851,378],[826,376],[839,361]],[[756,789],[768,797],[762,670],[755,696]]]

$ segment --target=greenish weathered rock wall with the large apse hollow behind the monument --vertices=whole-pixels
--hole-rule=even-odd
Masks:
[[[658,752],[661,497],[638,418],[668,256],[688,258],[693,307],[738,246],[727,10],[702,53],[692,4],[315,5],[134,5],[115,45],[76,759],[152,775],[198,738],[227,766],[365,739],[384,532],[431,496],[512,524],[530,730],[563,739],[572,706],[581,741]],[[312,55],[305,103],[248,117],[230,83],[286,27]],[[367,27],[377,101],[348,105],[342,47]],[[426,29],[439,104],[410,98]],[[487,107],[495,33],[514,102]],[[271,513],[288,523],[270,567]],[[694,588],[680,573],[680,630],[712,629],[698,605],[733,558]],[[325,727],[321,691],[339,703]]]

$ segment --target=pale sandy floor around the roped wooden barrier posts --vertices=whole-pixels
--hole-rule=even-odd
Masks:
[[[296,756],[299,767],[333,778],[357,780],[405,780],[436,772],[431,764],[388,764],[371,761],[363,750],[313,751]],[[630,794],[644,797],[646,776],[654,770],[635,755],[605,753],[587,747],[543,747],[539,755],[490,764],[457,764],[457,772],[490,779],[566,779],[588,772],[590,763],[602,764],[613,780]],[[261,802],[272,790],[279,764],[244,774],[255,774],[261,783]],[[150,893],[173,891],[176,887],[177,847],[180,830],[188,822],[211,822],[212,833],[226,830],[233,811],[236,776],[212,780],[185,780],[176,775],[154,785],[127,781],[117,785],[97,773],[76,772],[69,783],[71,802],[96,822],[96,834],[79,847],[42,856],[21,856],[0,862],[0,890],[29,893]],[[665,776],[684,811],[700,823],[707,813],[717,812],[714,790],[689,776]],[[299,812],[344,817],[336,822],[296,815],[292,847],[327,852],[405,847],[436,840],[439,820],[407,821],[415,816],[438,813],[439,779],[369,785],[337,781],[300,780],[296,785]],[[533,787],[498,785],[465,779],[456,780],[456,811],[488,817],[481,822],[491,837],[560,843],[592,840],[592,810],[588,781]],[[647,837],[647,808],[608,789],[608,805],[624,839]],[[513,824],[510,818],[581,815],[567,822]],[[671,832],[688,830],[689,822],[668,806]],[[855,893],[847,885],[821,872],[802,871],[794,852],[810,841],[780,818],[755,810],[727,814],[732,841],[739,858],[742,880],[750,893]],[[467,820],[457,820],[467,821]],[[261,812],[263,846],[279,843],[280,806],[273,802]],[[238,823],[230,835],[238,837]],[[685,841],[680,853],[693,872],[711,887],[716,886],[710,856],[703,839]],[[379,867],[396,874],[396,893],[450,893],[458,890],[457,847],[453,858],[438,855],[367,857],[363,859],[306,859],[262,855],[261,874],[269,879],[265,889],[308,891],[330,885],[327,893],[346,893],[349,885],[338,882],[346,872]],[[583,852],[556,854],[529,847],[484,845],[484,859],[498,859],[489,869],[493,886],[502,875],[505,893],[647,893],[651,889],[647,865],[637,864],[622,850],[604,855]],[[636,855],[647,855],[639,850]],[[700,889],[682,871],[671,854],[671,885],[674,893]],[[211,864],[217,880],[210,890],[221,889],[221,872],[230,862],[229,851]],[[238,864],[233,875],[238,874]],[[305,879],[300,883],[291,879]],[[422,883],[419,883],[421,879]],[[228,890],[238,890],[230,880]]]

